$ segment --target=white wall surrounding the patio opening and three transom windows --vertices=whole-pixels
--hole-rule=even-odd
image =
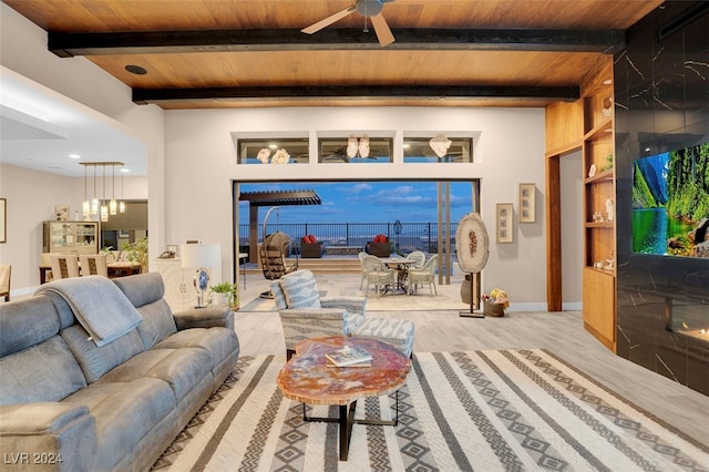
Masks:
[[[393,164],[237,165],[232,134],[389,133]],[[473,164],[403,164],[403,135],[479,134]],[[425,135],[425,134],[423,134]],[[328,181],[481,178],[482,214],[491,235],[483,271],[484,290],[507,290],[517,308],[546,308],[544,227],[544,110],[480,107],[291,107],[166,112],[166,234],[168,244],[186,239],[220,243],[230,254],[232,181]],[[312,146],[311,146],[312,147]],[[315,153],[310,153],[315,155]],[[495,244],[495,204],[518,207],[518,184],[535,183],[536,223],[516,225],[513,244]],[[405,215],[403,216],[405,218]],[[232,274],[230,257],[223,277]],[[522,305],[520,305],[522,304]],[[526,304],[526,305],[524,305]]]

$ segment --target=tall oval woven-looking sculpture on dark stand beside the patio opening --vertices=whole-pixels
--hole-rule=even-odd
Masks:
[[[470,310],[461,310],[459,315],[470,318],[484,318],[484,315],[476,314],[473,310],[473,297],[471,296],[473,293],[472,274],[483,270],[490,255],[490,238],[480,213],[469,213],[459,222],[455,230],[455,254],[460,269],[467,274],[463,284],[467,284],[467,300],[470,301]],[[461,286],[461,297],[464,297],[464,291],[465,289]]]

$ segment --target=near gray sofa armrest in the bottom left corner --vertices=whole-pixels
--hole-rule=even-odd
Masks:
[[[0,407],[3,470],[92,470],[96,423],[85,406],[56,402]],[[7,469],[6,469],[7,468]]]

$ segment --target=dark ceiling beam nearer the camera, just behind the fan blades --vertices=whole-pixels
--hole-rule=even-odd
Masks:
[[[387,50],[495,50],[613,53],[625,45],[621,30],[415,29],[392,30]],[[358,28],[300,30],[49,32],[48,48],[61,58],[74,55],[155,54],[171,52],[379,50],[377,37]]]

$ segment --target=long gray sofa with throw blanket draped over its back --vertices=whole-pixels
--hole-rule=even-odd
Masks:
[[[163,294],[156,273],[89,276],[0,305],[2,470],[151,468],[239,356],[228,308]]]

